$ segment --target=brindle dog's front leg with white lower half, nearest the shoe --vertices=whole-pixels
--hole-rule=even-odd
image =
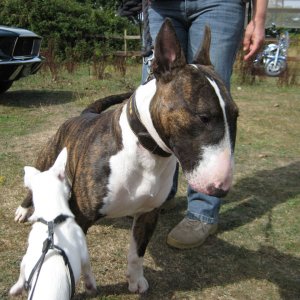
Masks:
[[[130,292],[144,293],[149,287],[144,277],[143,260],[147,245],[157,224],[158,215],[159,209],[154,209],[134,218],[127,268]]]

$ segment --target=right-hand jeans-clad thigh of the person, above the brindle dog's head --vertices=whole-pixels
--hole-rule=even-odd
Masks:
[[[188,36],[188,61],[191,62],[203,39],[204,28],[211,30],[210,59],[230,88],[230,77],[236,53],[243,36],[245,4],[242,0],[187,1],[191,22]]]

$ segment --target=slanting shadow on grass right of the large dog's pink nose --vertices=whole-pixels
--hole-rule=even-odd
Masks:
[[[233,186],[226,202],[239,201],[221,214],[221,230],[233,230],[269,212],[300,194],[300,161],[273,170],[262,170]]]

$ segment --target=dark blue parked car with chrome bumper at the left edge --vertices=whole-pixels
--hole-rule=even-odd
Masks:
[[[42,38],[34,32],[0,26],[0,93],[15,80],[35,74],[43,63]]]

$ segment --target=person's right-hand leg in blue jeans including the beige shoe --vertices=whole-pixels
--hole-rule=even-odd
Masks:
[[[187,59],[191,63],[203,40],[204,28],[211,29],[210,58],[216,72],[230,88],[234,59],[241,42],[245,7],[241,0],[186,1],[191,22]],[[176,248],[200,246],[217,229],[221,200],[188,187],[186,217],[169,233],[167,243]]]

